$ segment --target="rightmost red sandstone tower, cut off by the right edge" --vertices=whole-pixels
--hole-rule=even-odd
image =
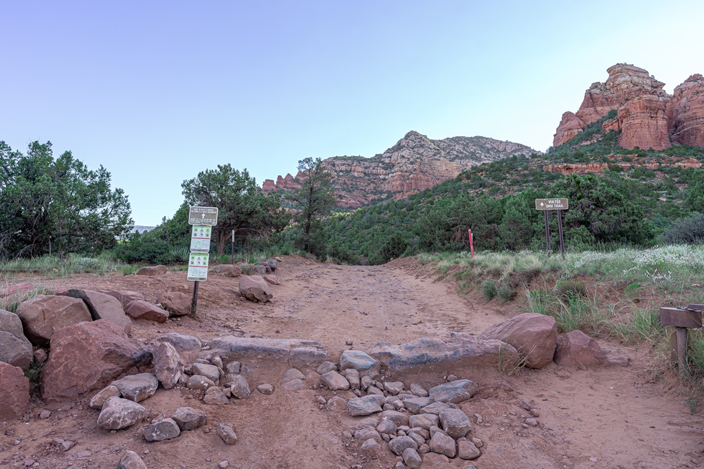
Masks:
[[[667,106],[672,142],[704,146],[704,77],[696,74],[674,89]]]

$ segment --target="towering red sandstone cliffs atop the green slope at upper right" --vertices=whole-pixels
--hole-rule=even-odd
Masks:
[[[704,78],[692,75],[675,88],[674,96],[662,89],[647,70],[618,63],[608,68],[609,77],[586,90],[577,113],[566,112],[555,132],[558,146],[584,131],[612,109],[615,118],[604,130],[621,130],[619,144],[632,149],[661,150],[676,144],[704,145]]]

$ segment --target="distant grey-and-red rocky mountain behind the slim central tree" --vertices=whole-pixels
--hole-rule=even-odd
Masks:
[[[528,146],[488,137],[451,137],[432,140],[411,131],[372,158],[335,156],[324,161],[332,173],[338,206],[357,208],[379,199],[401,199],[455,177],[474,165],[514,155],[539,154]],[[296,189],[293,176],[265,180],[264,192]]]

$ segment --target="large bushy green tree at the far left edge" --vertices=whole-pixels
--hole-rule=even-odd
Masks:
[[[0,256],[113,247],[134,223],[127,196],[110,180],[70,151],[55,159],[51,142],[32,142],[26,155],[0,142]]]

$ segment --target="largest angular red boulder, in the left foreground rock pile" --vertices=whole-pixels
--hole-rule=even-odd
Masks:
[[[78,323],[57,330],[42,370],[46,401],[75,400],[102,389],[133,366],[149,365],[151,351],[109,320]]]

